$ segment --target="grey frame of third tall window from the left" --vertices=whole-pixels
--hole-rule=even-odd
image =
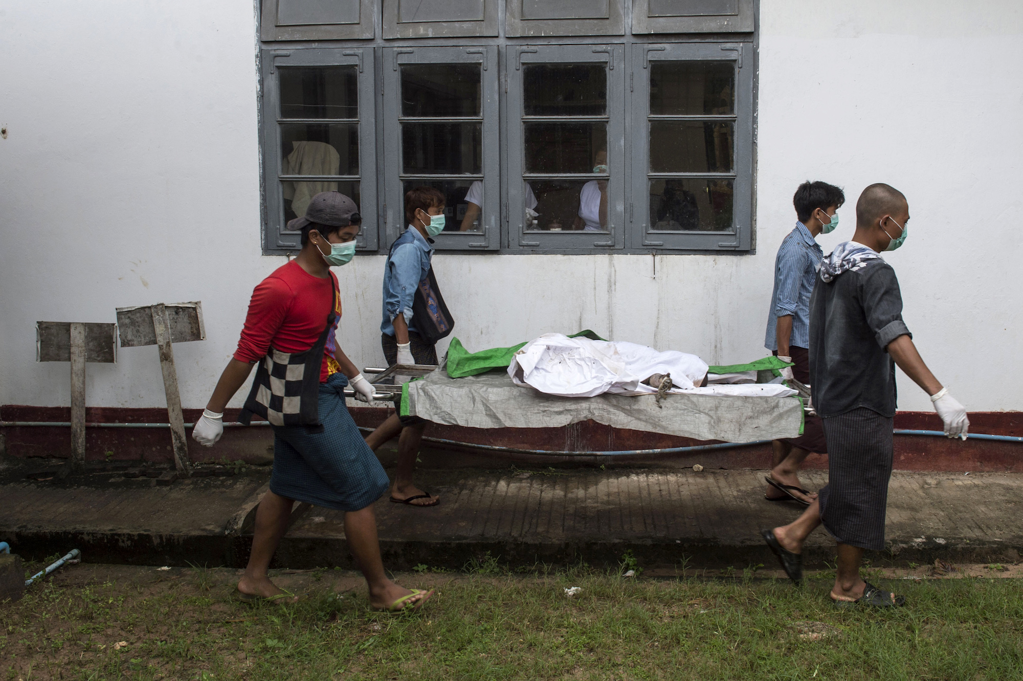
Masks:
[[[615,44],[562,44],[562,45],[509,45],[504,59],[507,73],[507,92],[504,98],[505,115],[505,187],[504,220],[507,226],[507,248],[522,252],[545,253],[599,253],[625,246],[629,230],[625,216],[625,187],[628,186],[628,164],[625,152],[625,112],[628,110],[628,92],[625,79],[625,46]],[[606,63],[608,64],[608,115],[582,117],[608,121],[608,221],[609,231],[562,232],[525,230],[525,133],[524,120],[549,117],[524,116],[523,69],[529,63]],[[560,177],[570,180],[592,180],[590,174],[537,174],[537,179]],[[509,207],[511,207],[510,210]]]

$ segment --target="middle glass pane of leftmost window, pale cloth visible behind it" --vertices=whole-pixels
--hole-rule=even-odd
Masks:
[[[281,175],[358,175],[358,123],[280,126]]]

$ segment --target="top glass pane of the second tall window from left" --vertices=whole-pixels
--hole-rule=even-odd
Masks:
[[[483,82],[478,63],[404,64],[402,116],[481,116]]]

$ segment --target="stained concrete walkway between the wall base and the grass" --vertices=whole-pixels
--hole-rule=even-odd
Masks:
[[[87,561],[137,564],[241,565],[250,539],[225,526],[268,476],[178,481],[155,487],[116,472],[88,480],[0,485],[0,541],[27,557],[80,548]],[[459,569],[487,556],[513,566],[586,561],[617,564],[631,550],[647,568],[737,569],[773,556],[761,528],[798,515],[794,503],[763,499],[764,471],[664,469],[427,470],[424,488],[442,498],[434,508],[376,504],[385,561]],[[827,473],[808,471],[817,489]],[[904,472],[892,478],[889,550],[875,564],[1015,562],[1023,552],[1023,474]],[[834,543],[817,531],[807,563],[831,561]],[[292,527],[277,563],[295,569],[351,568],[343,513],[312,507]]]

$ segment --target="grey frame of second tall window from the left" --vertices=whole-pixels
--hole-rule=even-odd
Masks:
[[[483,177],[474,175],[405,175],[401,158],[401,72],[403,63],[479,63],[482,78],[481,114],[483,116]],[[499,66],[496,45],[457,47],[387,47],[382,60],[384,70],[384,197],[385,229],[388,245],[407,227],[405,223],[406,180],[483,180],[482,232],[444,231],[434,237],[438,251],[496,251],[500,233],[500,99]],[[417,120],[417,119],[412,119]],[[445,119],[431,119],[445,121]],[[487,178],[490,178],[489,180]]]

